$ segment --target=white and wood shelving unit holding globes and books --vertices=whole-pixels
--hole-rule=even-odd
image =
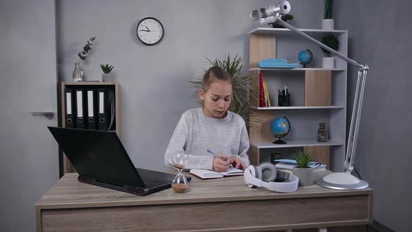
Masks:
[[[347,55],[348,31],[300,30],[319,41],[323,34],[334,34],[339,39],[339,52]],[[254,80],[258,80],[260,73],[263,73],[272,103],[272,107],[260,107],[258,101],[251,98],[249,156],[252,164],[270,161],[270,153],[277,152],[279,149],[282,151],[289,149],[290,152],[302,147],[317,154],[318,161],[328,164],[332,171],[341,171],[340,164],[344,160],[346,147],[346,61],[336,57],[335,68],[321,68],[321,59],[324,56],[321,48],[289,29],[258,27],[250,31],[249,36],[250,75],[256,78]],[[273,57],[290,59],[291,62],[298,63],[297,54],[305,49],[311,50],[314,55],[313,61],[307,65],[307,68],[258,68],[257,66],[258,61]],[[311,105],[313,102],[308,99],[318,92],[310,89],[309,86],[315,88],[317,85],[321,86],[323,80],[329,80],[328,94],[325,95],[327,96],[325,100],[329,101],[325,104]],[[278,89],[283,89],[284,85],[287,85],[290,91],[292,105],[290,107],[278,106]],[[273,144],[272,142],[277,138],[274,138],[270,130],[270,122],[276,117],[283,116],[287,117],[291,124],[290,132],[282,138],[287,143]],[[320,122],[327,124],[330,133],[330,140],[326,143],[316,140]],[[286,157],[288,155],[285,154]]]

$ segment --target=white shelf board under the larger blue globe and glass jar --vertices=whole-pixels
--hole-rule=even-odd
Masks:
[[[275,138],[273,139],[275,140]],[[317,140],[287,140],[286,144],[274,144],[272,142],[260,142],[260,143],[252,143],[251,145],[257,147],[258,149],[263,148],[281,148],[281,147],[313,147],[313,146],[341,146],[344,143],[337,143],[336,141],[328,141],[328,142],[318,142]]]

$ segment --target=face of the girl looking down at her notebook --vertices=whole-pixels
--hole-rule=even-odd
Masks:
[[[223,118],[232,101],[232,84],[226,80],[215,80],[207,91],[199,90],[200,100],[203,101],[203,112],[207,117]]]

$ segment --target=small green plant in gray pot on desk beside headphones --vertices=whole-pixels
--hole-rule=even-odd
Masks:
[[[314,171],[313,168],[309,166],[314,159],[313,154],[297,150],[293,153],[292,157],[297,163],[297,166],[293,167],[292,173],[299,178],[299,185],[310,186],[314,184]]]

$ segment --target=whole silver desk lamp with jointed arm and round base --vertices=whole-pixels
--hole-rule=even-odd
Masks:
[[[257,10],[253,10],[250,16],[254,21],[259,21],[260,24],[268,24],[272,22],[281,24],[287,29],[290,29],[290,31],[293,31],[296,34],[308,39],[309,41],[316,43],[321,48],[328,50],[334,55],[337,55],[337,57],[344,59],[349,64],[353,64],[354,66],[358,67],[358,82],[356,84],[355,99],[353,102],[353,111],[351,118],[351,128],[349,130],[348,147],[346,147],[346,155],[344,161],[345,171],[341,173],[331,173],[323,178],[316,180],[315,182],[316,184],[319,184],[322,187],[326,187],[329,189],[365,189],[369,186],[369,184],[365,182],[365,180],[359,180],[351,173],[353,171],[353,160],[355,159],[356,141],[358,140],[360,113],[362,110],[363,94],[365,91],[365,80],[367,77],[367,71],[369,70],[369,67],[366,64],[359,64],[353,59],[346,57],[345,55],[341,54],[340,52],[337,52],[336,50],[333,50],[332,48],[329,48],[327,45],[324,45],[323,43],[317,41],[315,38],[312,38],[311,36],[304,34],[299,29],[284,22],[284,20],[282,20],[281,17],[289,13],[289,11],[290,3],[288,1],[278,1],[273,6],[267,6],[266,8],[259,8]]]

